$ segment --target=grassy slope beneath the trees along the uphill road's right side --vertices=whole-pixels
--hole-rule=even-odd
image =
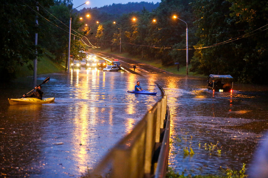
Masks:
[[[168,72],[171,72],[171,73],[174,73],[174,74],[180,74],[180,75],[185,75],[186,74],[186,66],[183,66],[183,65],[181,65],[179,71],[177,71],[177,65],[163,66],[161,64],[161,60],[141,58],[141,56],[132,56],[132,55],[130,55],[128,53],[121,53],[120,54],[120,53],[118,53],[118,51],[111,52],[110,49],[102,49],[102,50],[101,49],[94,49],[94,51],[102,51],[102,52],[105,52],[105,53],[111,53],[111,54],[119,55],[119,56],[122,56],[122,57],[125,57],[125,58],[131,58],[133,60],[150,64],[152,66],[155,66],[157,68],[161,68],[161,69],[163,69],[165,71],[168,71]],[[198,76],[198,77],[207,77],[207,76],[204,76],[204,75],[199,75],[199,74],[196,74],[196,73],[193,73],[193,72],[189,72],[189,68],[191,68],[191,64],[188,65],[188,75]]]

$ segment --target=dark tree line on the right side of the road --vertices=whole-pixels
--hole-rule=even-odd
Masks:
[[[101,33],[94,24],[98,16],[93,17],[89,22],[97,35],[91,40],[111,50],[121,46],[124,52],[161,59],[163,65],[184,65],[186,24],[172,18],[176,14],[188,26],[190,71],[267,84],[267,9],[266,1],[256,0],[162,0],[152,12],[144,8],[113,19],[109,16],[101,24]]]

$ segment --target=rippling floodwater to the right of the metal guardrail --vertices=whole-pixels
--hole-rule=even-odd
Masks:
[[[212,92],[206,90],[206,79],[148,76],[155,78],[168,96],[169,166],[186,175],[217,174],[221,167],[240,170],[243,163],[249,166],[268,129],[267,92],[248,92],[255,86],[238,91],[235,85],[233,93]],[[194,155],[185,156],[186,147],[192,148]]]

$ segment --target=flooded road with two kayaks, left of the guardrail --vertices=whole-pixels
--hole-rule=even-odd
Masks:
[[[37,83],[48,76],[43,98],[55,103],[8,104],[32,90],[32,78],[1,86],[0,177],[79,177],[161,99],[154,81],[130,73],[81,69]],[[157,95],[127,93],[137,80]]]

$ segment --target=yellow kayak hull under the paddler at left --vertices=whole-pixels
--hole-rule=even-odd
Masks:
[[[18,105],[18,104],[45,104],[54,102],[55,98],[19,98],[19,99],[11,99],[9,98],[10,105]]]

